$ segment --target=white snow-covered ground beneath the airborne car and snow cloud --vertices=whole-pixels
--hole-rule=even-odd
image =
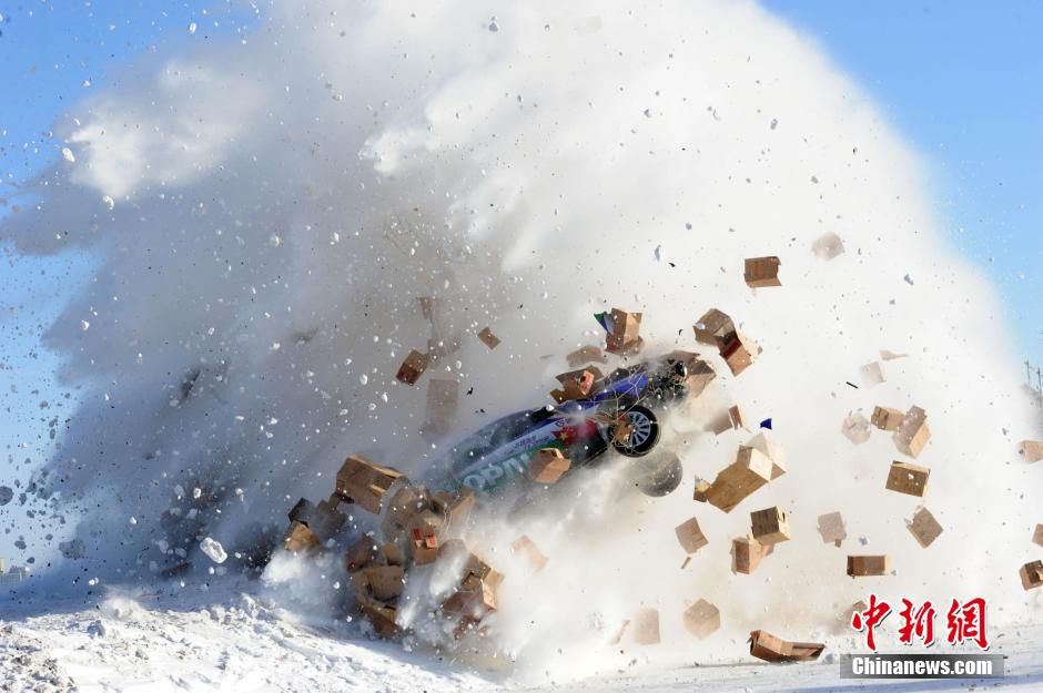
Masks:
[[[357,626],[305,622],[227,580],[209,591],[109,590],[97,599],[0,602],[2,691],[961,691],[1043,690],[1043,625],[994,634],[1006,659],[996,681],[852,681],[836,653],[812,664],[770,665],[741,652],[735,663],[531,684],[509,667],[446,661],[431,651],[369,640]]]

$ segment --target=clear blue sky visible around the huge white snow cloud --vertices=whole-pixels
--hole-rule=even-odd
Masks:
[[[11,197],[12,183],[60,156],[60,145],[44,134],[51,122],[119,80],[136,57],[251,21],[223,9],[207,13],[211,4],[0,0],[0,197]],[[763,4],[817,42],[922,154],[931,202],[953,246],[999,287],[1009,340],[1043,365],[1043,3]],[[194,34],[190,22],[198,24]],[[75,393],[65,398],[55,378],[60,363],[39,338],[64,296],[85,281],[90,258],[12,261],[2,238],[0,252],[2,483],[11,476],[7,459],[47,455],[48,422],[71,412]],[[0,556],[12,553],[11,540],[0,534]]]

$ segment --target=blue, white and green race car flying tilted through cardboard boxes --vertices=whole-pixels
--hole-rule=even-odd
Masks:
[[[687,351],[618,368],[584,398],[510,414],[452,446],[443,461],[447,478],[442,486],[492,495],[533,485],[529,459],[541,448],[560,448],[571,461],[569,473],[609,448],[641,458],[659,442],[656,411],[698,396],[713,377],[697,354]],[[676,458],[639,467],[638,486],[648,495],[664,496],[680,483]]]

